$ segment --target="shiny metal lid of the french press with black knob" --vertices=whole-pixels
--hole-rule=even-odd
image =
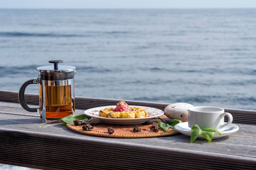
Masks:
[[[39,79],[43,80],[65,80],[74,78],[74,74],[77,72],[75,66],[58,65],[63,63],[62,60],[50,60],[49,63],[53,63],[51,66],[37,67],[39,72]]]

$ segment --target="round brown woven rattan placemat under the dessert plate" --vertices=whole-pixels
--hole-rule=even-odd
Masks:
[[[163,118],[165,119],[165,118]],[[141,132],[133,132],[133,125],[116,125],[116,124],[106,124],[99,123],[97,126],[94,126],[92,131],[85,131],[81,126],[75,126],[67,124],[67,127],[76,132],[94,135],[94,136],[103,136],[103,137],[122,137],[122,138],[142,138],[142,137],[160,137],[178,134],[178,131],[175,131],[169,128],[166,132],[159,129],[158,132],[150,130],[150,127],[155,124],[158,119],[153,119],[148,121],[146,124],[138,124],[141,128]],[[108,127],[115,129],[115,132],[112,134],[108,133]]]

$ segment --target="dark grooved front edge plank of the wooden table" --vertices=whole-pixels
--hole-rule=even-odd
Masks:
[[[170,166],[176,170],[189,170],[191,167],[198,170],[256,168],[255,159],[246,160],[243,157],[206,152],[193,153],[172,147],[149,148],[146,144],[99,139],[85,141],[81,137],[51,137],[44,133],[27,135],[21,130],[13,131],[12,134],[1,132],[0,139],[0,150],[5,153],[0,156],[1,163],[20,166],[26,162],[34,168],[46,170],[83,170],[85,167],[95,170],[162,170],[169,169]]]

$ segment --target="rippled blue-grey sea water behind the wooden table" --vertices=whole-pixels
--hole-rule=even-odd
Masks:
[[[0,9],[0,89],[76,66],[75,96],[256,109],[256,9]],[[38,93],[29,85],[26,93]]]

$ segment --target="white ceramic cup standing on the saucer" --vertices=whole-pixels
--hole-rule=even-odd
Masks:
[[[228,122],[224,122],[225,116],[229,118]],[[220,129],[231,124],[232,121],[233,116],[230,113],[225,112],[223,108],[195,106],[188,110],[188,123],[190,128],[197,124],[201,129]]]

